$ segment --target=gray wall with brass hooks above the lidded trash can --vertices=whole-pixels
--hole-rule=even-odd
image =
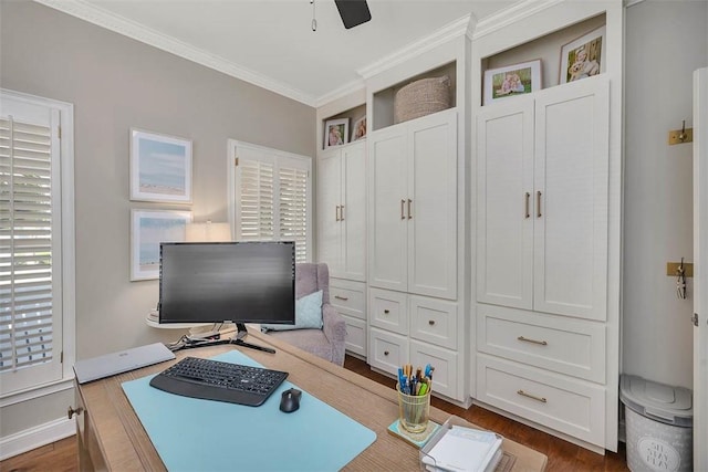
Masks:
[[[693,262],[691,81],[708,65],[708,2],[646,0],[626,11],[623,371],[693,388],[693,280],[676,296],[666,263]]]

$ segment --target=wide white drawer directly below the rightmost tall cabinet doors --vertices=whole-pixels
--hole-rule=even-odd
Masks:
[[[605,382],[605,327],[593,322],[478,304],[477,348],[543,369]]]

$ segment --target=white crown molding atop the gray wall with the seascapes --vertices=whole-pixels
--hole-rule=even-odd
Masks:
[[[290,87],[282,82],[274,81],[249,69],[237,65],[216,54],[210,54],[200,49],[194,48],[181,41],[150,30],[139,23],[127,20],[123,17],[108,13],[83,0],[35,0],[46,7],[53,8],[72,17],[96,24],[101,28],[123,34],[136,41],[160,49],[163,51],[184,57],[206,67],[214,69],[223,74],[251,83],[261,88],[283,95],[309,106],[315,106],[317,102],[313,96],[302,91]]]

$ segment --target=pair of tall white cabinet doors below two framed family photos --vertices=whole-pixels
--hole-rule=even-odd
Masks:
[[[486,106],[477,123],[477,300],[604,321],[606,77]]]

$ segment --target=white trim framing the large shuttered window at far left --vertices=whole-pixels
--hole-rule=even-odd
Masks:
[[[61,126],[62,378],[0,396],[0,407],[4,407],[66,390],[73,386],[73,366],[76,359],[76,247],[74,241],[74,105],[7,88],[0,88],[0,94],[59,109]]]

